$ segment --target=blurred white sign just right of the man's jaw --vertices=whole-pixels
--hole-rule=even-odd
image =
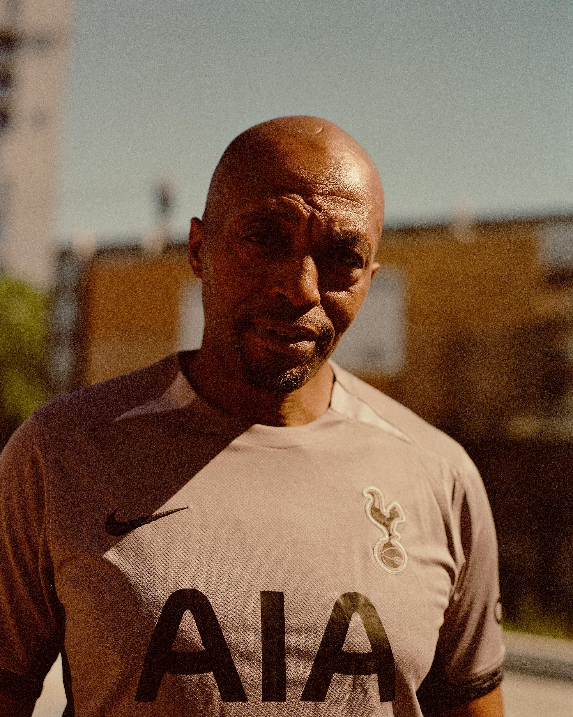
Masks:
[[[332,359],[357,373],[398,374],[405,364],[406,286],[398,267],[382,266]]]

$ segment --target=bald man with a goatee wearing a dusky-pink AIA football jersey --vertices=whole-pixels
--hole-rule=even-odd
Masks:
[[[189,234],[201,348],[52,402],[1,456],[1,715],[62,652],[67,716],[502,716],[476,468],[329,361],[383,209],[332,123],[228,146]]]

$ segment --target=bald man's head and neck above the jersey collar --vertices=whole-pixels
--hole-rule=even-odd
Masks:
[[[191,221],[206,320],[188,367],[197,391],[250,422],[294,426],[322,414],[327,359],[378,268],[382,221],[376,168],[335,125],[283,118],[234,141],[203,219]]]

